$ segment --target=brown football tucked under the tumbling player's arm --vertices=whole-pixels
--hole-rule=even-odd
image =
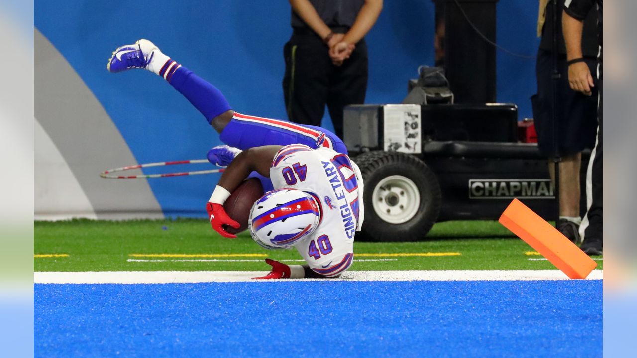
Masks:
[[[244,180],[224,203],[225,212],[241,226],[238,229],[234,229],[234,227],[225,225],[224,229],[231,234],[241,233],[241,231],[247,229],[252,204],[262,196],[263,187],[259,179],[248,178]]]

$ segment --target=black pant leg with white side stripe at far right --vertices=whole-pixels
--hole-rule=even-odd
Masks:
[[[590,185],[592,188],[592,199],[586,217],[589,226],[584,230],[584,241],[602,240],[602,76],[601,64],[599,65],[599,106],[598,106],[598,137],[595,149],[591,154],[592,161]],[[589,185],[587,178],[587,185]]]

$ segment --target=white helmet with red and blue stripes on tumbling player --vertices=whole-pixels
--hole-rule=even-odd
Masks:
[[[252,205],[250,234],[265,248],[288,248],[311,234],[320,222],[317,201],[306,192],[279,189]]]

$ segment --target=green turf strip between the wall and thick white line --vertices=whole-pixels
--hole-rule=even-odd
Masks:
[[[510,270],[555,269],[548,261],[526,255],[533,251],[497,222],[464,221],[436,224],[424,241],[372,243],[355,241],[351,270]],[[447,253],[450,256],[367,256],[364,254]],[[34,223],[34,271],[268,271],[267,256],[290,264],[296,250],[265,250],[246,232],[227,239],[207,220],[70,220]],[[250,254],[233,257],[137,257],[133,254]],[[255,256],[256,254],[256,256]],[[598,258],[598,268],[602,261]],[[134,260],[162,260],[140,262]],[[369,259],[390,261],[364,261]],[[255,261],[179,261],[255,260]]]

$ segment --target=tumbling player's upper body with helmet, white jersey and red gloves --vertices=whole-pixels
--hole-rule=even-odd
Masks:
[[[268,145],[236,156],[208,203],[210,222],[228,236],[223,225],[238,227],[224,211],[224,201],[248,174],[268,176],[275,190],[257,200],[250,211],[250,234],[265,248],[296,247],[306,265],[267,259],[273,271],[264,278],[336,277],[354,259],[354,233],[363,217],[362,180],[354,162],[330,148]]]

